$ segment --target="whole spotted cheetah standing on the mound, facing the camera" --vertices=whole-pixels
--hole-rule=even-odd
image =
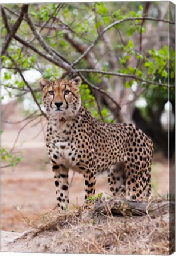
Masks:
[[[59,210],[65,210],[69,203],[69,169],[84,175],[86,201],[95,194],[96,175],[104,171],[113,196],[124,191],[134,200],[149,197],[151,139],[131,123],[96,120],[81,103],[80,84],[79,76],[39,81],[48,116],[46,149]]]

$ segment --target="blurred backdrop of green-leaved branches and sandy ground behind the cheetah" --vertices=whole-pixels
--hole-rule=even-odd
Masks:
[[[56,206],[37,81],[81,76],[85,107],[100,121],[135,123],[155,145],[152,194],[175,183],[175,9],[168,1],[1,5],[1,228]],[[69,174],[70,207],[84,179]],[[171,185],[172,185],[171,184]],[[110,194],[107,175],[97,194]],[[19,212],[20,210],[20,212]]]

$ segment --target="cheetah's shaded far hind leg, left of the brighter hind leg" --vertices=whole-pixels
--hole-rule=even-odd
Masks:
[[[113,167],[110,168],[110,172],[108,173],[108,183],[113,196],[119,196],[120,193],[124,193],[126,174],[125,164],[123,162],[117,162],[116,165],[113,165]]]

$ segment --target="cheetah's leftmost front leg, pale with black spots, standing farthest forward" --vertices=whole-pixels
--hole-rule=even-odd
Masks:
[[[53,164],[57,206],[59,210],[65,210],[69,203],[69,183],[68,183],[68,169],[64,165]]]

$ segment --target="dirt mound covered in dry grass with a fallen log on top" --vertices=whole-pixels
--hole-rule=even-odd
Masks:
[[[87,209],[50,210],[35,220],[24,217],[33,228],[22,235],[2,232],[1,251],[169,254],[169,207],[174,204],[161,199],[139,203],[97,198]]]

